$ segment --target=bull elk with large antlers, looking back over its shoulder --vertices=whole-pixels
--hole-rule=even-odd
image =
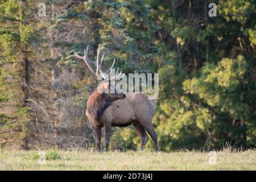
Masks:
[[[86,116],[92,123],[96,131],[96,145],[98,151],[101,150],[101,128],[105,129],[105,145],[106,151],[109,149],[110,130],[112,126],[125,127],[133,125],[141,137],[141,150],[144,150],[148,141],[148,135],[152,138],[155,144],[155,150],[159,151],[158,135],[155,133],[152,125],[152,117],[154,115],[155,100],[149,100],[144,93],[105,93],[102,92],[106,88],[111,88],[109,80],[115,80],[123,77],[122,72],[110,77],[110,72],[114,66],[115,59],[108,71],[103,72],[101,69],[104,55],[100,59],[100,46],[97,50],[97,60],[92,61],[88,57],[89,46],[84,50],[84,56],[71,55],[69,57],[77,57],[85,61],[86,65],[98,78],[108,80],[96,88],[90,95],[87,102]],[[96,69],[93,69],[96,68]],[[101,76],[101,77],[100,77]],[[110,86],[110,87],[109,87]],[[100,92],[99,92],[100,91]],[[147,131],[147,133],[146,133]]]

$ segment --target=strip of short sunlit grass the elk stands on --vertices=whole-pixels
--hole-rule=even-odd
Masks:
[[[45,154],[45,155],[44,155]],[[0,170],[256,170],[256,151],[0,151]],[[46,158],[46,160],[40,160]],[[45,164],[42,164],[45,161]],[[41,163],[41,164],[40,164]]]

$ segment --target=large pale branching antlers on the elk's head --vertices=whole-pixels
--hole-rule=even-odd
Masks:
[[[92,71],[93,74],[96,75],[98,78],[100,78],[99,73],[101,74],[101,76],[104,79],[109,78],[111,70],[112,70],[112,68],[114,67],[114,64],[115,64],[115,59],[113,61],[112,66],[106,72],[103,72],[102,69],[101,69],[101,65],[102,65],[102,63],[104,61],[104,55],[102,55],[101,60],[100,60],[101,46],[99,46],[98,49],[97,49],[97,60],[96,60],[96,63],[89,59],[89,57],[88,57],[88,50],[89,50],[89,45],[87,46],[86,50],[84,49],[84,56],[77,55],[77,53],[74,51],[75,55],[68,56],[68,58],[73,56],[73,57],[77,57],[79,59],[82,59],[82,60],[85,61],[86,65],[88,66],[90,71]],[[93,71],[92,64],[96,66],[96,71]],[[123,73],[122,76],[121,75],[122,75],[122,71],[120,73],[118,73],[118,69],[117,69],[117,73],[115,73],[114,77],[111,77],[110,80],[115,80],[116,78],[122,78],[125,75],[125,73]]]

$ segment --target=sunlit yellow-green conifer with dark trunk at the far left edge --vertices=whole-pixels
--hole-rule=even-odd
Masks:
[[[28,149],[26,124],[30,121],[30,60],[32,59],[32,2],[3,1],[0,5],[1,46],[1,144],[22,139]],[[18,138],[18,139],[17,139]]]

